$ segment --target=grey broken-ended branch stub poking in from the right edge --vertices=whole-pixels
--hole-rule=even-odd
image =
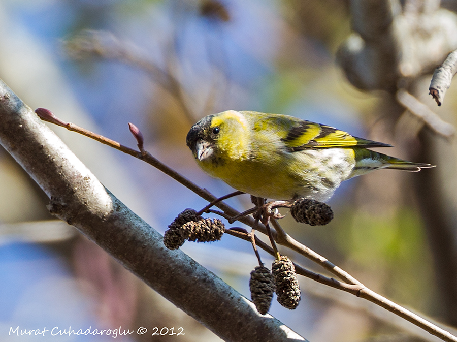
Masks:
[[[433,73],[432,82],[430,83],[430,95],[435,99],[438,106],[441,106],[444,95],[449,89],[452,78],[457,73],[457,50],[449,53],[446,60]]]

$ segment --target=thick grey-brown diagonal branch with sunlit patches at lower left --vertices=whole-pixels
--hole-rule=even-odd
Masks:
[[[167,250],[162,236],[106,190],[2,81],[0,143],[51,198],[53,214],[224,340],[304,340],[259,315],[249,300],[184,253]]]

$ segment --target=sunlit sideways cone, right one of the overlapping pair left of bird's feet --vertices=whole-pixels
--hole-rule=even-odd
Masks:
[[[218,241],[225,232],[225,226],[219,219],[190,221],[181,227],[182,235],[189,241]]]

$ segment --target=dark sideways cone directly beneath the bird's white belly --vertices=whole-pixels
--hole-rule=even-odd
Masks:
[[[300,198],[290,208],[290,213],[297,222],[310,226],[324,226],[333,219],[333,211],[325,203]]]

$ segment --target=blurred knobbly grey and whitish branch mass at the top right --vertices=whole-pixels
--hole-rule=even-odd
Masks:
[[[351,13],[354,33],[338,61],[363,90],[395,92],[400,79],[431,72],[457,48],[457,15],[433,0],[408,2],[403,13],[398,0],[352,0]]]

